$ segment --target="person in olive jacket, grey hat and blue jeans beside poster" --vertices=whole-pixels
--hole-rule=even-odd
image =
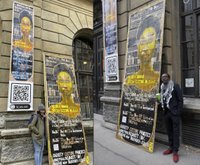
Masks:
[[[43,150],[45,143],[45,107],[43,104],[38,106],[33,120],[28,125],[31,131],[33,146],[34,146],[34,159],[35,165],[42,165]]]

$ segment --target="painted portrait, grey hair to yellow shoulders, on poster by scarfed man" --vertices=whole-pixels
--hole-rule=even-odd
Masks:
[[[150,92],[157,87],[159,71],[153,69],[152,57],[157,53],[159,27],[159,21],[153,16],[147,17],[141,22],[137,32],[139,70],[125,78],[125,86],[135,86],[145,92]]]

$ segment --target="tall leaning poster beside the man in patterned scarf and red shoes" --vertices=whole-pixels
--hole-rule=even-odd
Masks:
[[[117,138],[153,152],[165,1],[152,1],[129,15],[125,79]]]

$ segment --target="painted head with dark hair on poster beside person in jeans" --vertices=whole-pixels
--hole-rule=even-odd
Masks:
[[[73,74],[72,71],[65,64],[59,64],[54,68],[54,76],[56,76],[56,83],[61,93],[71,95],[73,92]]]

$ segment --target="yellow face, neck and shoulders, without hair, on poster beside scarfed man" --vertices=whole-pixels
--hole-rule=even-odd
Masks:
[[[141,33],[138,44],[138,57],[140,59],[140,69],[138,72],[127,76],[126,86],[150,92],[154,89],[159,80],[159,73],[154,71],[151,58],[156,48],[156,30],[154,27],[146,27]]]

